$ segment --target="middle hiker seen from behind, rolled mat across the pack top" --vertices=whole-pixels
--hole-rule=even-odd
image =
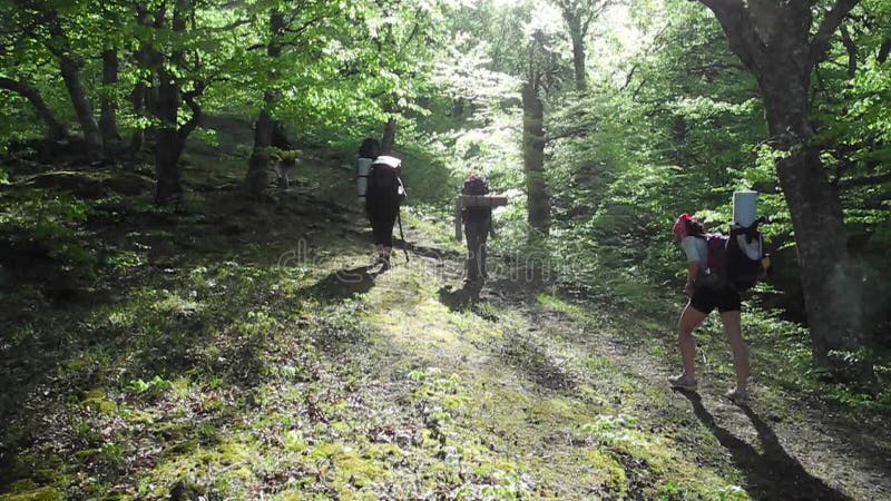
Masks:
[[[461,195],[489,195],[489,185],[482,177],[471,174],[464,180]],[[469,283],[484,281],[489,277],[486,272],[486,242],[489,235],[495,238],[492,206],[464,207],[461,209],[461,222],[467,237],[466,279]]]

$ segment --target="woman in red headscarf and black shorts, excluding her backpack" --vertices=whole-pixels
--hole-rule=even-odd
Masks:
[[[709,261],[712,243],[726,242],[726,237],[706,235],[703,224],[689,214],[681,215],[672,230],[675,242],[681,243],[689,264],[685,287],[689,301],[677,323],[684,372],[677,377],[669,379],[668,382],[675,389],[696,391],[696,340],[693,331],[717,308],[724,325],[724,334],[733,351],[733,366],[736,371],[736,387],[727,392],[725,396],[734,403],[744,403],[748,399],[746,383],[750,362],[740,317],[742,297],[737,287],[727,279],[726,274],[716,269],[718,266],[714,264],[714,259]],[[716,250],[713,252],[717,254]],[[709,263],[712,267],[709,267]]]

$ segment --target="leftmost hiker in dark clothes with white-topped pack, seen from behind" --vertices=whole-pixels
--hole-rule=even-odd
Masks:
[[[407,198],[401,173],[402,160],[390,156],[378,157],[369,170],[365,212],[378,247],[375,263],[382,265],[382,272],[390,269],[393,226],[399,217],[399,208]]]

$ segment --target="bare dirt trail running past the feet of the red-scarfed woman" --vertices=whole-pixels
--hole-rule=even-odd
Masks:
[[[410,239],[423,242],[424,235],[412,232]],[[434,253],[428,248],[415,259],[442,269],[442,262],[431,255]],[[509,281],[495,279],[479,295],[470,289],[450,291],[444,284],[460,281],[457,257],[446,259],[446,273],[440,274],[446,287],[440,289],[443,304],[453,312],[472,312],[480,323],[499,320],[488,311],[491,306],[515,312],[522,316],[527,332],[510,333],[508,347],[500,346],[500,352],[487,346],[479,350],[478,340],[459,336],[458,346],[434,352],[433,357],[460,353],[463,363],[458,367],[464,373],[503,364],[515,371],[520,384],[531,382],[544,394],[569,400],[579,400],[580,387],[595,389],[600,399],[621,401],[616,404],[617,412],[630,410],[640,429],[669,438],[687,460],[717,472],[735,471],[740,485],[753,498],[891,498],[887,430],[844,422],[757,381],[751,405],[742,407],[723,399],[723,384],[730,385],[730,381],[709,381],[714,374],[706,374],[698,394],[672,392],[666,377],[676,369],[674,352],[655,357],[640,345],[665,340],[643,334],[634,341],[638,333],[621,333],[618,322],[598,318],[597,312],[548,305],[537,299],[535,289]],[[412,312],[404,313],[411,321]],[[468,348],[468,343],[476,346]],[[547,355],[555,343],[561,345],[560,355]],[[628,396],[626,390],[597,381],[596,372],[585,367],[584,358],[591,355],[615,364],[621,376],[614,383],[629,384],[630,392],[638,395]],[[555,426],[554,432],[560,431],[559,424]]]

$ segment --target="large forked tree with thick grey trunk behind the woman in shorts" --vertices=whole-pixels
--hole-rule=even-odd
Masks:
[[[815,145],[811,78],[859,0],[836,0],[816,22],[813,0],[699,0],[761,89],[770,144],[782,151],[777,175],[786,197],[816,365],[834,369],[833,351],[861,342],[859,312],[841,296],[855,294],[842,205]]]

